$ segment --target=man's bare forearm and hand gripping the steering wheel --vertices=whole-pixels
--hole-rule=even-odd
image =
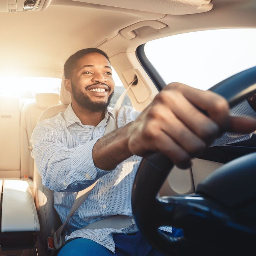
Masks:
[[[254,130],[256,120],[231,117],[228,102],[223,97],[172,83],[134,122],[99,139],[92,157],[95,166],[111,170],[131,155],[144,156],[150,151],[160,151],[178,167],[186,168],[191,158],[201,154],[223,132]]]

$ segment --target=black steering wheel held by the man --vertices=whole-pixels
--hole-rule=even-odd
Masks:
[[[233,107],[256,93],[256,67],[209,90]],[[148,242],[166,255],[230,255],[239,250],[244,255],[251,250],[256,239],[256,153],[215,170],[196,194],[160,198],[158,192],[173,166],[167,156],[154,153],[143,158],[135,176],[132,210]],[[171,237],[159,230],[161,226],[182,228],[184,236]]]

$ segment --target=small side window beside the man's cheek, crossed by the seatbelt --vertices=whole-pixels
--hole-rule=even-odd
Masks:
[[[118,98],[121,96],[121,94],[125,90],[121,79],[119,78],[118,74],[113,69],[113,67],[112,67],[112,76],[113,76],[113,79],[114,79],[114,82],[115,82],[115,89],[114,89],[114,95],[111,99],[110,107],[114,107],[114,105],[116,104],[116,101],[118,100]],[[128,94],[124,97],[122,106],[124,106],[124,105],[132,106],[132,102],[130,102]]]

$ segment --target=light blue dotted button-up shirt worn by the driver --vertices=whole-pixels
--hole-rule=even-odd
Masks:
[[[247,104],[247,105],[246,105]],[[255,116],[247,102],[241,103],[238,110],[250,109],[249,115]],[[248,115],[248,111],[246,114]],[[245,114],[235,109],[236,114]],[[140,112],[132,107],[123,106],[118,112],[118,128],[134,121]],[[107,108],[105,118],[96,126],[83,125],[71,105],[65,112],[41,121],[32,134],[32,157],[36,161],[43,185],[54,191],[54,207],[62,222],[65,222],[75,201],[77,191],[90,186],[99,179],[85,202],[70,217],[66,225],[65,239],[91,239],[114,252],[112,235],[115,233],[134,233],[135,224],[117,229],[81,229],[83,226],[112,215],[132,216],[131,190],[141,158],[131,156],[112,171],[96,168],[92,160],[92,148],[104,135],[108,118],[114,118]],[[224,134],[214,143],[225,144],[248,139],[250,135],[238,137]],[[106,158],[107,161],[107,158]],[[171,232],[171,227],[163,228]]]

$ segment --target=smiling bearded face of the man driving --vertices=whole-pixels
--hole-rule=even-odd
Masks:
[[[71,94],[80,106],[101,112],[109,105],[114,93],[110,62],[100,53],[81,57],[71,76]]]

